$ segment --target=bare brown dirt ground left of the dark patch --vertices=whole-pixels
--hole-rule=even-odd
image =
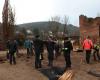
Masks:
[[[17,58],[16,65],[8,61],[0,64],[0,80],[48,80],[33,65],[34,58],[27,59],[26,55]]]

